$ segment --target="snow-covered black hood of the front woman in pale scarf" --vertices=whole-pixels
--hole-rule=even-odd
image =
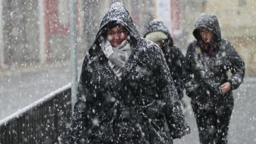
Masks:
[[[126,7],[119,3],[115,2],[112,4],[107,12],[104,14],[104,17],[100,24],[100,29],[95,36],[95,40],[90,46],[89,54],[92,56],[93,54],[101,51],[100,49],[100,36],[102,36],[106,31],[108,26],[113,24],[121,24],[124,26],[130,35],[132,44],[134,44],[138,38],[140,38],[140,34],[133,22],[133,19],[130,17],[130,14]]]

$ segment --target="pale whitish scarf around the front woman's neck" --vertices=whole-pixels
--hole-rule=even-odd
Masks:
[[[102,40],[100,45],[103,53],[109,59],[109,66],[114,71],[116,76],[121,80],[122,69],[129,58],[132,49],[127,40],[123,40],[118,47],[112,47],[109,40]]]

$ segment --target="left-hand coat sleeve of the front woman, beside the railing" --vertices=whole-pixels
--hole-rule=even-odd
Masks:
[[[68,143],[78,142],[82,129],[85,123],[88,121],[86,116],[86,104],[85,104],[85,97],[86,97],[85,87],[88,82],[88,76],[86,76],[87,73],[85,68],[87,67],[88,59],[89,59],[89,56],[87,54],[83,61],[81,76],[78,82],[76,103],[74,105],[73,117],[71,119],[71,124],[68,131],[68,138],[67,138]]]

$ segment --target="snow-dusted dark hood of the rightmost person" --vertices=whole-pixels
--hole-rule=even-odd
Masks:
[[[195,29],[193,31],[193,35],[197,40],[201,40],[201,36],[199,34],[199,28],[207,28],[214,33],[216,40],[218,42],[221,41],[220,26],[219,26],[216,15],[201,14],[200,17],[197,19],[197,23],[194,26],[195,26]]]

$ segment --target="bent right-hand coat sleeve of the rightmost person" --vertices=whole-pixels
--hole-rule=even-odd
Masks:
[[[230,42],[228,42],[228,57],[230,59],[232,73],[232,76],[228,81],[231,83],[231,89],[235,90],[243,82],[245,64]]]

